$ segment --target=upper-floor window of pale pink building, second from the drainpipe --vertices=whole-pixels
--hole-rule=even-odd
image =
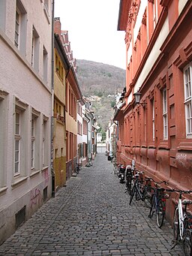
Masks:
[[[33,26],[31,41],[31,66],[38,71],[39,68],[39,35]]]

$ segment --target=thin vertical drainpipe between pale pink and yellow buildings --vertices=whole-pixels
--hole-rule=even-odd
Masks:
[[[54,0],[52,0],[52,110],[51,110],[51,176],[52,176],[52,197],[55,197],[55,172],[53,169],[53,129],[54,129],[54,119],[53,119],[53,106],[54,106]]]

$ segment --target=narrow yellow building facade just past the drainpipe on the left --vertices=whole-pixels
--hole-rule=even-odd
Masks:
[[[66,81],[70,69],[68,58],[58,35],[54,50],[54,104],[53,104],[53,170],[55,191],[66,183]]]

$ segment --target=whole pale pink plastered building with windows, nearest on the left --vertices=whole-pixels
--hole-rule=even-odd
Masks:
[[[0,243],[52,193],[52,2],[0,2]]]

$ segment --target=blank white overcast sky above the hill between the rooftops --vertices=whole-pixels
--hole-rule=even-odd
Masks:
[[[75,59],[125,69],[124,32],[117,31],[120,0],[55,0],[55,17],[68,30]]]

